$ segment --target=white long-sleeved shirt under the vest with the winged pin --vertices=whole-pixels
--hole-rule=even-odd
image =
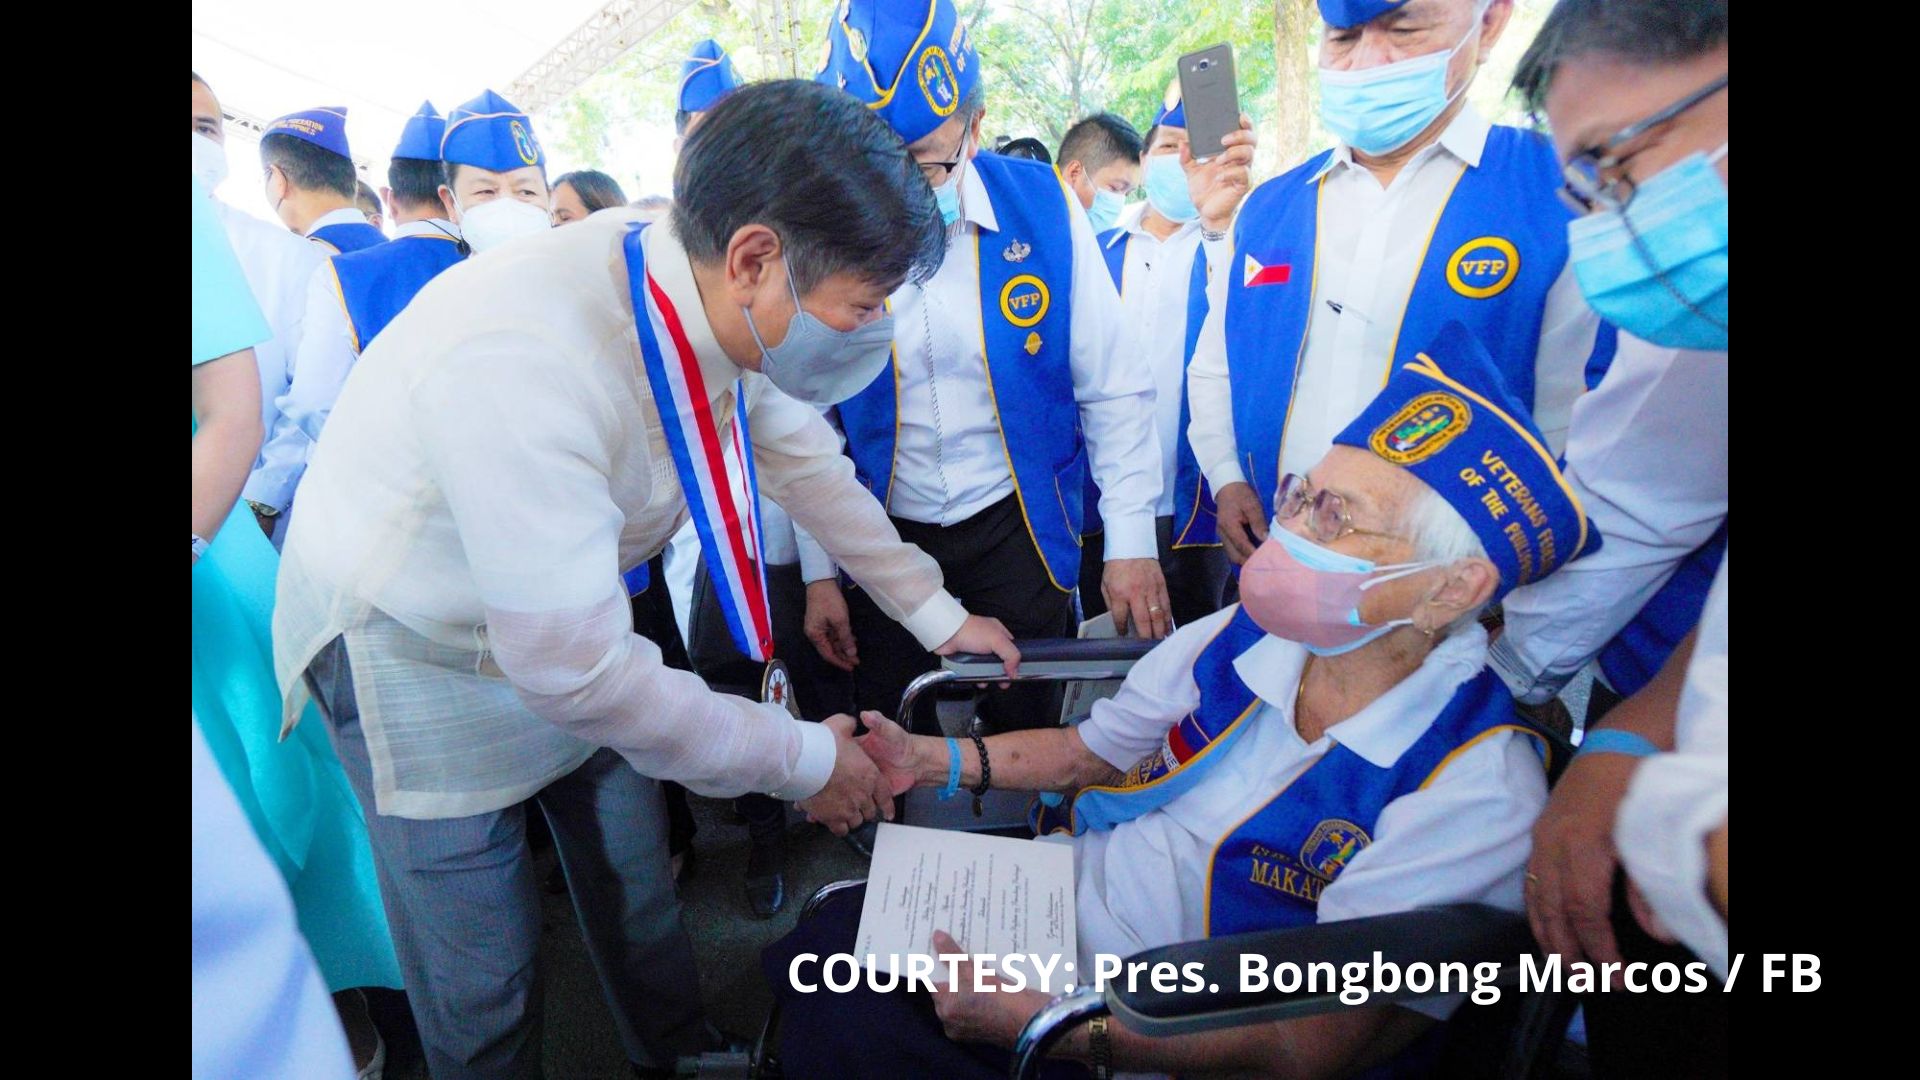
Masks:
[[[1064,188],[1062,198],[1069,198]],[[960,217],[933,281],[900,286],[891,302],[900,423],[887,511],[935,525],[958,525],[1014,494],[987,384],[979,307],[979,252],[1000,258],[1006,240],[998,236],[987,184],[972,167],[960,177]],[[1071,306],[1073,400],[1087,432],[1087,459],[1100,482],[1106,557],[1152,559],[1160,500],[1152,371],[1123,340],[1119,296],[1087,215],[1068,213],[1068,229],[1071,296],[1054,302]]]

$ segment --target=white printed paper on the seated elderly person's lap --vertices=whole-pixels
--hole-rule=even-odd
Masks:
[[[881,822],[852,953],[900,974],[935,930],[966,953],[1071,961],[1073,846]]]

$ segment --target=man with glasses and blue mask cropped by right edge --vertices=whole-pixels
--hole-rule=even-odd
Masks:
[[[1524,690],[1551,688],[1626,619],[1665,615],[1667,636],[1684,638],[1663,667],[1642,663],[1657,675],[1586,732],[1536,826],[1526,901],[1563,959],[1697,957],[1716,976],[1728,963],[1726,15],[1724,0],[1565,0],[1515,71],[1582,211],[1572,271],[1620,329],[1617,371],[1574,415],[1569,469],[1603,492],[1597,513],[1620,523],[1622,546],[1613,555],[1609,532],[1592,569],[1517,594],[1515,640],[1500,650]],[[1713,536],[1709,590],[1699,563]],[[1592,994],[1584,1007],[1597,1076],[1726,1070],[1724,994]]]

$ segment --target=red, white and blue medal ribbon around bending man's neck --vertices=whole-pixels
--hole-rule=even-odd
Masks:
[[[626,234],[626,279],[634,290],[634,327],[639,334],[639,356],[653,386],[653,404],[660,413],[666,446],[674,452],[680,488],[693,515],[707,557],[707,577],[712,578],[720,609],[733,644],[751,659],[768,661],[774,655],[774,623],[766,611],[766,559],[760,550],[760,486],[753,469],[753,440],[747,434],[747,396],[733,384],[733,430],[720,436],[714,425],[712,398],[701,375],[699,357],[687,344],[680,313],[666,290],[647,273],[647,254],[641,242],[645,229]],[[672,352],[660,348],[668,342]],[[735,498],[728,477],[728,444],[741,477],[745,498]],[[745,507],[745,515],[741,513]],[[745,519],[743,519],[745,517]]]

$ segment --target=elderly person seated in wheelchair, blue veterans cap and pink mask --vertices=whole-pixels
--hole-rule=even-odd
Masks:
[[[958,749],[960,786],[985,774],[1071,796],[1033,817],[1075,847],[1075,970],[1250,930],[1523,907],[1544,746],[1486,667],[1476,615],[1599,544],[1540,432],[1480,342],[1448,325],[1317,467],[1281,480],[1275,507],[1240,603],[1160,644],[1085,723],[975,744],[862,717],[897,790],[947,788]],[[849,951],[856,920],[858,903],[822,909],[764,957],[783,1074],[1006,1076],[1048,1005],[1039,990],[977,992],[966,965],[931,1001],[785,986],[791,957]],[[945,934],[931,947],[962,951]],[[1096,1020],[1044,1074],[1417,1067],[1461,999],[1171,1038]]]

